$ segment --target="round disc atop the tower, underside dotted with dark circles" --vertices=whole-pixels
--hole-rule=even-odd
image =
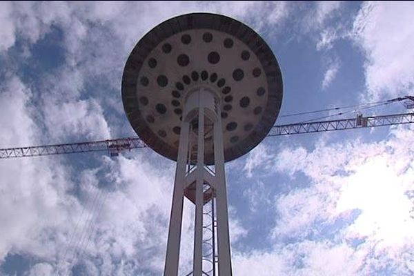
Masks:
[[[168,19],[132,50],[122,76],[122,101],[137,135],[177,161],[184,99],[208,87],[220,98],[224,159],[257,146],[275,124],[282,104],[282,73],[266,42],[244,23],[219,14]],[[213,141],[205,142],[213,164]]]

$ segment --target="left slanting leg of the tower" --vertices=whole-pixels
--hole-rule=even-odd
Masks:
[[[177,168],[175,170],[174,194],[172,195],[170,229],[168,231],[164,276],[178,275],[189,128],[190,124],[183,119],[183,121],[181,121],[181,133],[179,135]]]

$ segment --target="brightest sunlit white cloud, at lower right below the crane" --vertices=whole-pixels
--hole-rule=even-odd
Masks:
[[[395,266],[400,275],[408,275],[406,267],[411,264],[411,257],[403,253],[413,246],[414,240],[414,202],[409,196],[414,189],[414,151],[407,150],[411,131],[412,128],[395,128],[388,141],[372,144],[352,141],[319,145],[312,151],[285,149],[276,169],[291,176],[303,172],[310,183],[307,188],[290,191],[277,199],[278,219],[273,237],[324,237],[317,225],[328,227],[338,219],[351,219],[349,225],[335,230],[333,241],[364,241],[363,246],[351,248],[355,251],[351,254],[365,256],[366,263],[358,261],[354,267],[342,264],[357,271],[343,275],[377,271],[380,267],[375,258]],[[360,212],[357,217],[349,217],[353,210]],[[317,253],[315,262],[324,259],[321,254],[329,255],[327,252]],[[370,252],[373,257],[368,257]],[[315,269],[327,275],[338,271]]]

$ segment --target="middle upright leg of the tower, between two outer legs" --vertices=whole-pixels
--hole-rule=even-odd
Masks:
[[[198,95],[198,143],[197,143],[197,182],[195,188],[195,234],[193,275],[201,276],[203,266],[203,206],[204,206],[204,107],[201,105],[203,89]]]

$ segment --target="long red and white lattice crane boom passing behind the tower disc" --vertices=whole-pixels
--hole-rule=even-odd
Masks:
[[[356,118],[349,119],[312,121],[273,126],[272,130],[270,130],[268,134],[268,137],[413,123],[414,112],[371,117],[362,117],[362,115],[358,115]],[[108,151],[111,156],[117,156],[119,152],[125,150],[146,147],[147,146],[144,141],[139,139],[139,137],[129,137],[103,141],[87,141],[72,144],[28,146],[21,148],[0,148],[0,159],[97,151]]]

